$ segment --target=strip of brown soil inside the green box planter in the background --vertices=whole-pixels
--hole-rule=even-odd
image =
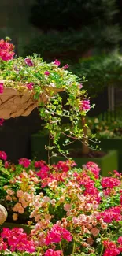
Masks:
[[[83,154],[81,150],[70,150],[68,157],[71,158],[102,158],[107,153],[103,151],[90,150],[88,154]]]

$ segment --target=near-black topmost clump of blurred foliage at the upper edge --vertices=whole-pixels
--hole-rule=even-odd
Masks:
[[[115,0],[36,0],[30,20],[44,31],[78,29],[91,24],[99,24],[102,30],[106,24],[113,24],[116,13]]]

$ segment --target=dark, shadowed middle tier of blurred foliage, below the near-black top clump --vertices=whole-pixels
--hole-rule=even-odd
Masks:
[[[76,63],[84,52],[98,48],[111,51],[116,47],[120,32],[118,26],[105,26],[99,35],[99,25],[83,27],[82,30],[68,30],[66,32],[48,32],[31,39],[24,46],[23,56],[33,53],[40,54],[44,60],[52,61],[55,58],[68,64]],[[106,36],[107,35],[107,36]]]

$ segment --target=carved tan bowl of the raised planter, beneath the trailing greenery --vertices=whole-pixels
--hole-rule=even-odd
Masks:
[[[48,102],[51,95],[60,91],[64,90],[46,86],[37,101],[30,91],[18,91],[13,87],[5,87],[0,95],[0,118],[28,116],[33,109],[39,106],[40,102]]]

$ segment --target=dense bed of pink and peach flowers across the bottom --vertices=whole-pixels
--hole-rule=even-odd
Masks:
[[[0,203],[15,223],[26,213],[31,226],[28,236],[3,228],[1,255],[122,254],[121,173],[102,177],[93,162],[78,169],[70,159],[46,165],[25,158],[18,165],[1,161],[0,172]]]

